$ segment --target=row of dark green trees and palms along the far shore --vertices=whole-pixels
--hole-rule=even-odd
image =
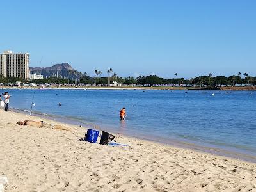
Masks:
[[[141,85],[141,86],[207,86],[207,87],[216,87],[216,86],[235,86],[235,85],[256,85],[256,77],[249,76],[247,73],[243,75],[241,72],[238,72],[236,75],[225,77],[225,76],[216,76],[210,73],[207,76],[198,76],[191,77],[189,79],[184,79],[182,77],[179,78],[178,74],[175,73],[175,78],[164,79],[162,77],[156,75],[150,76],[138,76],[138,77],[120,77],[115,72],[113,72],[112,68],[107,70],[108,76],[101,77],[101,70],[95,70],[94,77],[87,76],[86,73],[79,76],[77,79],[63,79],[61,77],[48,77],[45,79],[21,79],[18,77],[3,77],[0,76],[0,83],[15,83],[17,81],[21,81],[22,83],[36,83],[36,84],[45,84],[45,83],[53,83],[53,84],[87,84],[92,86],[110,86],[114,81],[124,84],[124,85]]]

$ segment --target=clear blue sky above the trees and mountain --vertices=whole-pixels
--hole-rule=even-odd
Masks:
[[[256,1],[1,1],[0,51],[93,75],[256,76]]]

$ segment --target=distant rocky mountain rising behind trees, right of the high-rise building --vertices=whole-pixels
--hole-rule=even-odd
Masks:
[[[74,70],[68,63],[61,63],[53,65],[52,67],[29,67],[30,74],[42,74],[44,78],[47,77],[62,77],[63,79],[79,79],[84,76],[81,72]]]

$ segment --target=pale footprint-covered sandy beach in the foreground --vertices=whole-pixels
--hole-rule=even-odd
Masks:
[[[6,191],[256,191],[256,164],[116,135],[128,146],[79,141],[70,131],[15,124],[42,120],[1,109],[0,175]]]

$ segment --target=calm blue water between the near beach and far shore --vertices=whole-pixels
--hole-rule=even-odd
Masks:
[[[256,92],[202,90],[9,90],[10,107],[87,127],[256,156]],[[212,96],[212,93],[215,95]],[[61,102],[61,106],[58,103]],[[125,107],[128,117],[120,121]]]

